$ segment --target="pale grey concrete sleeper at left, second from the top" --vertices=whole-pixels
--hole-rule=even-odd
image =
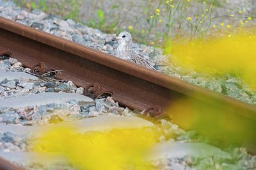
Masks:
[[[34,105],[47,105],[47,104],[63,104],[70,100],[75,99],[77,102],[83,102],[83,104],[94,104],[92,98],[80,95],[77,93],[38,93],[35,95],[26,95],[20,97],[4,98],[0,102],[1,107],[11,107],[17,109],[19,107],[28,107]]]

